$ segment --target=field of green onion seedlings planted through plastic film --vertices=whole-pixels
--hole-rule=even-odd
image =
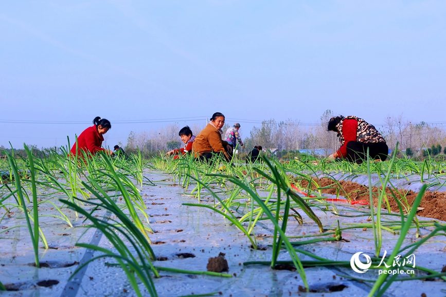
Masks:
[[[27,153],[0,160],[2,296],[446,294],[444,159]]]

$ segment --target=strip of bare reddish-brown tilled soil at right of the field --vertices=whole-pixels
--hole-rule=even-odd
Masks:
[[[353,181],[345,181],[340,180],[338,184],[335,183],[332,179],[323,177],[323,178],[314,178],[320,188],[328,187],[327,189],[323,189],[322,193],[333,194],[336,195],[339,193],[340,196],[349,197],[351,200],[366,200],[369,201],[369,190],[366,185],[359,184]],[[308,188],[308,181],[301,180],[298,181],[302,188]],[[316,186],[313,184],[312,189],[315,190]],[[380,187],[380,191],[382,187]],[[372,188],[373,193],[373,206],[377,206],[378,204],[378,188]],[[386,188],[387,199],[389,201],[390,209],[393,212],[399,212],[398,204],[395,201],[394,196],[396,197],[405,197],[410,206],[413,205],[415,198],[418,193],[412,190],[394,190],[390,188]],[[402,202],[402,205],[406,205],[404,198],[399,198]],[[383,201],[384,209],[387,207],[387,203]],[[446,192],[431,192],[426,191],[424,193],[423,199],[421,200],[419,211],[417,215],[422,217],[429,217],[439,220],[446,220]]]

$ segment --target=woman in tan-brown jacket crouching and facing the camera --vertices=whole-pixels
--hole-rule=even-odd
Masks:
[[[221,139],[221,128],[225,123],[225,116],[222,113],[212,115],[209,124],[195,137],[192,144],[192,152],[195,158],[201,161],[212,158],[214,155],[221,155],[230,160],[231,146]]]

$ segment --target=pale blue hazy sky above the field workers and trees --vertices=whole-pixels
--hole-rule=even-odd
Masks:
[[[327,109],[446,126],[446,1],[2,1],[0,104],[15,148],[96,116],[111,146],[215,112],[245,136]]]

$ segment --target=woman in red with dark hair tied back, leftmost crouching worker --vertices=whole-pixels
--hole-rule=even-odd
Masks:
[[[87,154],[96,154],[99,151],[104,151],[105,153],[112,155],[113,152],[109,150],[102,149],[102,141],[104,141],[104,135],[112,128],[109,120],[101,119],[96,117],[93,120],[94,125],[86,128],[81,135],[78,137],[78,156],[82,156],[83,152]],[[71,151],[73,156],[76,155],[76,143],[73,145]]]

